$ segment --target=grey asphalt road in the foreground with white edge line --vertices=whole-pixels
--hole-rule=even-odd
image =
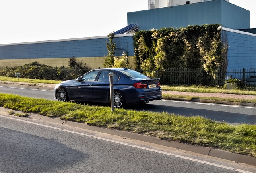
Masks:
[[[12,115],[0,115],[0,154],[1,173],[255,171],[249,165]]]

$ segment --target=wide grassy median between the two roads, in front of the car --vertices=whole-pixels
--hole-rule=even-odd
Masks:
[[[0,93],[0,106],[24,113],[130,131],[167,141],[213,147],[256,157],[256,125],[231,126],[204,117],[56,102]]]

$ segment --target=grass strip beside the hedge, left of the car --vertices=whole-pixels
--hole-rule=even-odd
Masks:
[[[0,76],[1,81],[10,81],[10,82],[25,82],[25,83],[43,83],[43,84],[58,84],[61,81],[60,80],[41,80],[41,79],[24,79],[24,78],[11,78],[11,77],[4,77]]]

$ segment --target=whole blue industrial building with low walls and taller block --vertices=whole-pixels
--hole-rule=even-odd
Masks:
[[[250,11],[225,0],[212,0],[165,8],[156,8],[127,14],[132,31],[180,28],[188,25],[220,24],[228,41],[228,68],[256,68],[256,29],[250,28]],[[116,56],[127,51],[132,60],[134,48],[132,34],[124,28],[118,32]],[[42,42],[1,44],[0,67],[23,65],[35,60],[50,66],[67,66],[68,59],[83,60],[89,67],[102,67],[107,55],[107,36],[52,40]]]

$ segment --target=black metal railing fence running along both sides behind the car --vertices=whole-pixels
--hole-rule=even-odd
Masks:
[[[66,67],[41,67],[35,66],[29,69],[17,69],[4,67],[0,69],[0,75],[15,77],[15,72],[20,72],[20,78],[34,78],[47,80],[70,80],[96,68],[66,68]],[[15,70],[15,72],[14,72]],[[19,70],[19,71],[17,71]],[[207,72],[198,68],[176,69],[168,68],[162,70],[138,70],[152,78],[160,78],[161,85],[204,85],[221,86],[227,79],[237,78],[247,84],[256,84],[256,68],[230,69],[227,71],[217,70]]]

